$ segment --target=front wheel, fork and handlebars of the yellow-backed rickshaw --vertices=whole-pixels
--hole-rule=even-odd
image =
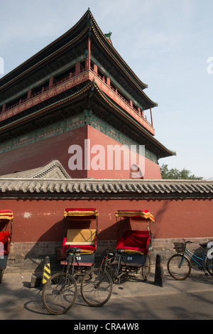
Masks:
[[[54,274],[43,286],[42,301],[45,308],[51,314],[59,315],[66,313],[74,305],[77,298],[77,284],[75,276],[78,269],[83,273],[82,267],[77,260],[80,248],[60,248],[62,258],[66,263],[62,272]],[[77,269],[76,269],[77,267]]]

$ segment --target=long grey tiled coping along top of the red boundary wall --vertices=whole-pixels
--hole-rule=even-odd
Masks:
[[[213,198],[213,181],[0,178],[0,197]]]

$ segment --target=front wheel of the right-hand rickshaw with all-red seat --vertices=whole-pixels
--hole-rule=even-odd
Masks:
[[[112,280],[107,271],[92,269],[82,279],[82,298],[89,306],[103,306],[111,297]]]

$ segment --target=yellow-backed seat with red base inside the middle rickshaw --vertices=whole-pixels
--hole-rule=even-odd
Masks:
[[[63,246],[71,245],[79,247],[81,252],[93,253],[96,249],[96,237],[96,230],[93,229],[68,229]]]

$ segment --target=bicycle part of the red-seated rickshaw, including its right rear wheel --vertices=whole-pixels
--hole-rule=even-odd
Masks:
[[[124,249],[117,249],[116,254],[113,254],[110,253],[110,249],[107,247],[100,266],[88,271],[83,277],[81,284],[82,298],[89,306],[103,306],[111,297],[113,283],[118,282],[120,284],[121,279],[129,275],[129,272],[138,271],[136,264],[126,264],[123,254]],[[142,266],[144,281],[148,279],[150,272],[151,260],[147,255],[146,262]],[[119,289],[122,288],[119,286]]]

